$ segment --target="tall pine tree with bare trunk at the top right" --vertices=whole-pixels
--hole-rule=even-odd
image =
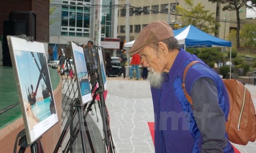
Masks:
[[[236,48],[240,48],[240,17],[239,17],[239,9],[243,6],[247,6],[248,8],[252,8],[256,6],[256,0],[208,0],[209,2],[220,2],[225,4],[222,8],[223,11],[236,11],[236,22],[237,22],[237,29],[236,29]],[[251,1],[252,5],[247,5],[247,2]]]

